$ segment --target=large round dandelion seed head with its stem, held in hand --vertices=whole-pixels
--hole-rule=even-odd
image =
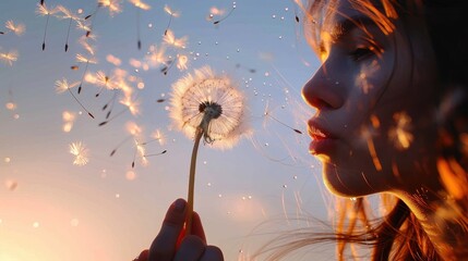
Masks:
[[[231,148],[242,135],[249,135],[245,117],[245,99],[231,79],[216,76],[209,67],[195,70],[194,74],[172,85],[170,115],[188,137],[194,138],[190,163],[187,215],[187,234],[192,226],[195,164],[200,140],[217,148]]]

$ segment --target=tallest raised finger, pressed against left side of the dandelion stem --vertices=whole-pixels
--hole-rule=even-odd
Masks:
[[[177,199],[166,213],[159,234],[154,239],[148,261],[171,261],[176,252],[177,238],[185,221],[185,200]]]

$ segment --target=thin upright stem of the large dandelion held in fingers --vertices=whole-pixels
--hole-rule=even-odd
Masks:
[[[192,159],[190,161],[190,177],[189,177],[189,196],[188,196],[188,210],[185,219],[185,235],[190,235],[192,231],[192,216],[193,216],[193,195],[195,190],[195,166],[196,154],[199,153],[200,140],[203,136],[203,128],[197,127],[195,132],[195,142],[192,150]]]

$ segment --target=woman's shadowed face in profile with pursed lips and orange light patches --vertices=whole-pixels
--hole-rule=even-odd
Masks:
[[[347,197],[431,187],[436,78],[423,23],[397,20],[384,34],[347,0],[333,13],[315,45],[322,66],[302,90],[316,109],[310,152],[325,184]]]

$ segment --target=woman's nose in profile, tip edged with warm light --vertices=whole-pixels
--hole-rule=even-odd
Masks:
[[[344,90],[340,88],[339,80],[329,77],[324,65],[305,83],[302,88],[302,98],[317,110],[336,110],[343,107],[345,102]]]

